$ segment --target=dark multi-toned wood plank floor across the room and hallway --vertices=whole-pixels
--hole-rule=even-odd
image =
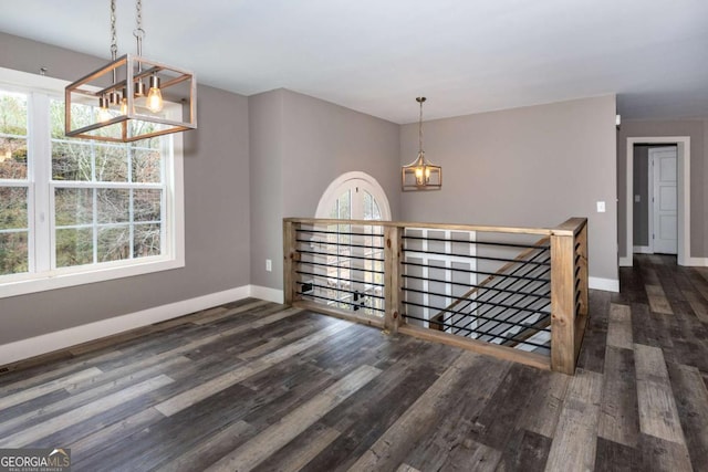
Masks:
[[[75,471],[708,471],[708,269],[591,292],[569,377],[246,300],[0,376]]]

